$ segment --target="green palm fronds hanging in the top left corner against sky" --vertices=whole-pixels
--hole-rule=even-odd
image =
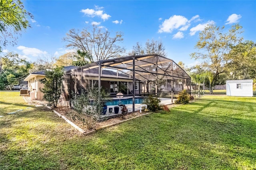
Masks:
[[[30,27],[28,18],[33,16],[24,9],[20,0],[0,0],[0,52],[7,43],[15,44],[17,37]],[[8,42],[8,38],[11,41]]]

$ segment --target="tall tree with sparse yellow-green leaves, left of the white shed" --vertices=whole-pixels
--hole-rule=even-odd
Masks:
[[[218,75],[224,73],[224,66],[228,63],[226,55],[231,47],[240,43],[242,38],[242,26],[236,24],[230,28],[228,33],[223,33],[224,27],[220,28],[215,24],[206,26],[199,34],[199,40],[195,45],[198,52],[190,54],[192,58],[200,59],[202,67],[211,70],[214,74],[213,84],[218,79]]]

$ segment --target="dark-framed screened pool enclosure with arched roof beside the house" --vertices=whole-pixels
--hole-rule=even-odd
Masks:
[[[64,75],[64,93],[80,94],[89,86],[102,87],[110,97],[132,98],[134,111],[137,97],[169,98],[186,89],[190,92],[190,76],[172,59],[160,55],[133,55],[101,60],[72,69]],[[99,92],[100,93],[100,92]],[[126,103],[127,104],[127,103]]]

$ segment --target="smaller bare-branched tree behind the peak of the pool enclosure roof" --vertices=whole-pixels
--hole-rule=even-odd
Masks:
[[[145,46],[142,46],[139,42],[133,46],[132,51],[128,53],[128,55],[144,55],[144,54],[158,54],[164,57],[167,56],[165,52],[165,47],[162,41],[148,40],[145,43]]]

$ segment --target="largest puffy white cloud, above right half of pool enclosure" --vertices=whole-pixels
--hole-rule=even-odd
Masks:
[[[180,15],[171,16],[169,19],[164,20],[158,32],[171,33],[174,29],[178,29],[181,26],[185,26],[187,22],[188,22],[188,19],[185,18],[184,16],[180,16]]]

